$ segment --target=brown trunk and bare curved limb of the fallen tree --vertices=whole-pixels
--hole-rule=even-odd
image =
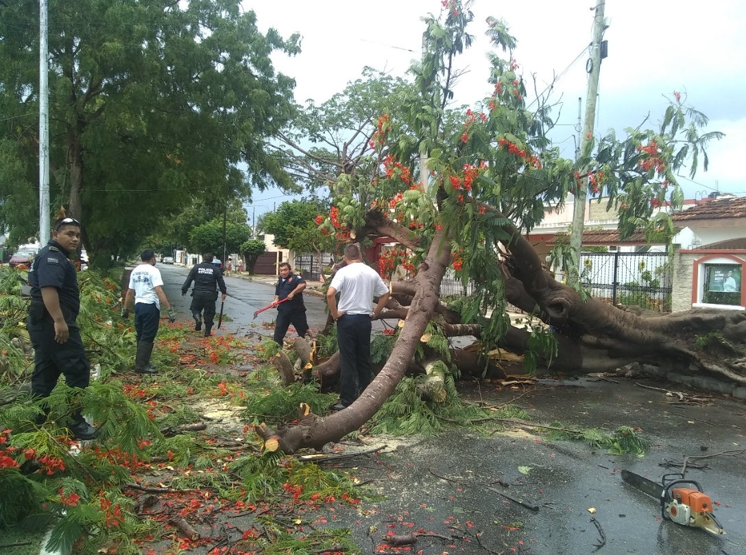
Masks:
[[[488,207],[488,210],[493,210]],[[374,211],[366,219],[366,233],[377,229],[380,213]],[[505,225],[510,235],[501,264],[504,291],[511,304],[535,313],[542,333],[551,333],[557,345],[554,357],[538,357],[539,368],[564,374],[618,369],[633,362],[671,364],[678,361],[710,374],[718,374],[733,383],[746,383],[746,312],[731,310],[692,310],[685,313],[660,314],[638,307],[614,307],[580,295],[558,282],[543,267],[542,260],[517,228]],[[403,239],[402,244],[416,245],[408,230],[386,220],[386,235]],[[378,230],[380,233],[380,230]],[[413,369],[425,371],[422,363],[413,360],[427,323],[437,322],[445,336],[472,336],[495,339],[500,348],[520,355],[530,351],[530,330],[511,327],[501,338],[484,338],[483,328],[474,323],[461,323],[459,316],[439,301],[439,286],[450,261],[448,239],[436,231],[426,260],[421,263],[413,280],[392,283],[392,300],[381,318],[404,320],[398,340],[386,366],[363,395],[350,407],[326,418],[309,413],[301,407],[299,424],[281,427],[277,432],[260,427],[258,433],[268,449],[293,453],[300,448],[321,449],[327,442],[337,441],[357,430],[392,394],[401,377]],[[358,236],[363,236],[358,233]],[[336,269],[335,269],[336,271]],[[503,317],[498,314],[495,317]],[[495,344],[495,340],[492,344]],[[310,360],[307,345],[299,344],[304,362]],[[515,371],[515,357],[501,362],[498,351],[489,354],[480,349],[454,349],[451,358],[468,377],[507,377]],[[540,354],[539,354],[540,355]],[[436,354],[427,353],[430,362]],[[485,373],[486,370],[486,373]],[[331,357],[313,367],[313,376],[328,388],[336,383],[339,357]],[[438,380],[439,377],[433,377]],[[437,388],[436,388],[437,390]],[[436,399],[435,399],[436,401]]]

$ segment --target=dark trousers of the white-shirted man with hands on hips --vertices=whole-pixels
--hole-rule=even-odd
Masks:
[[[371,383],[371,317],[345,314],[336,321],[339,343],[339,402],[350,406]]]

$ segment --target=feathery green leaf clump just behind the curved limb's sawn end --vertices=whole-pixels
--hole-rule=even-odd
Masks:
[[[335,395],[319,392],[318,383],[291,383],[283,388],[278,383],[269,392],[248,392],[245,416],[254,424],[266,421],[280,424],[298,418],[298,407],[306,403],[315,414],[326,413]]]

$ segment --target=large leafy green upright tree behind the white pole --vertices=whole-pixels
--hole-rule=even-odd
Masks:
[[[30,236],[39,12],[0,9],[0,165],[12,169],[0,174],[0,223]],[[134,250],[195,198],[295,189],[266,142],[294,111],[294,82],[270,54],[297,53],[297,36],[261,34],[237,0],[51,0],[49,10],[52,204],[81,219],[94,263]]]

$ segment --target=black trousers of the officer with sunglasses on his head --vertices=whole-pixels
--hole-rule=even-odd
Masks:
[[[66,319],[69,338],[64,343],[54,341],[54,322],[49,316],[40,321],[26,322],[31,345],[34,346],[34,374],[31,375],[31,393],[48,397],[60,374],[70,387],[84,388],[90,384],[90,365],[86,357],[81,330],[75,320]]]

